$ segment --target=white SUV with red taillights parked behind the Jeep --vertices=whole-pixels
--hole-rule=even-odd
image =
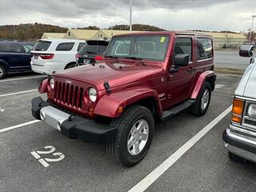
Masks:
[[[31,51],[31,68],[39,74],[52,74],[74,67],[75,54],[84,45],[86,41],[78,39],[40,39]]]

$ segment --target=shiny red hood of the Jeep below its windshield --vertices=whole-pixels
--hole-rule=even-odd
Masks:
[[[157,65],[102,62],[94,65],[77,66],[58,72],[53,76],[87,82],[96,86],[98,90],[104,90],[103,84],[106,81],[113,88],[154,78],[162,73],[162,67]]]

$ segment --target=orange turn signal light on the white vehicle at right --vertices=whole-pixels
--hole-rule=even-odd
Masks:
[[[241,123],[244,101],[238,98],[234,98],[231,121]]]

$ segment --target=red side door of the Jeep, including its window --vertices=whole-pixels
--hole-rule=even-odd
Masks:
[[[167,100],[168,107],[174,106],[179,102],[186,101],[189,97],[190,90],[193,86],[194,80],[194,36],[193,35],[179,35],[176,37],[174,46],[174,55],[189,54],[190,63],[188,66],[174,66],[174,59],[170,59],[170,68],[177,68],[177,72],[169,72]]]

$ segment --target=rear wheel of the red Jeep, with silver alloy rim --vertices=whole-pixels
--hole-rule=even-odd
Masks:
[[[193,106],[190,107],[190,113],[196,116],[202,116],[206,114],[210,104],[211,87],[209,82],[205,82],[202,85],[202,89],[198,94],[198,98]]]

